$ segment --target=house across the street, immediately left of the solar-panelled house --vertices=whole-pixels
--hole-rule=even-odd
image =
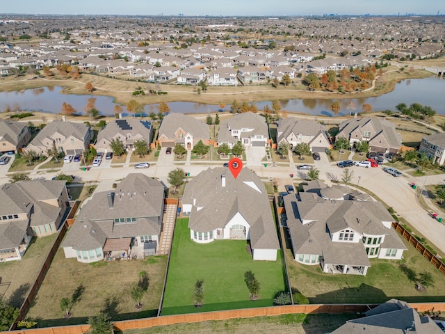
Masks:
[[[40,130],[26,146],[25,151],[45,155],[56,145],[57,150],[65,154],[83,154],[88,149],[92,137],[92,129],[83,123],[54,120]]]

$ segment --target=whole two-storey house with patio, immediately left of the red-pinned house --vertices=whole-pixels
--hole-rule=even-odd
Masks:
[[[65,257],[89,263],[156,255],[163,208],[163,184],[131,173],[83,205],[61,245]]]

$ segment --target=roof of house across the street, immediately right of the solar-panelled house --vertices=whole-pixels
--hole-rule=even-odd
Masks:
[[[209,125],[183,113],[169,113],[165,116],[159,127],[158,138],[162,135],[167,138],[175,138],[175,132],[179,128],[190,133],[194,138],[209,138]]]

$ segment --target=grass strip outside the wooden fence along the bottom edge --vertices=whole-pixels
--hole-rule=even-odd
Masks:
[[[156,326],[125,331],[124,334],[325,334],[334,331],[345,321],[355,319],[351,313],[343,315],[279,315],[221,321],[202,321],[195,324]]]

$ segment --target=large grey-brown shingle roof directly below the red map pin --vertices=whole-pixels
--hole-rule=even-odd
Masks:
[[[280,248],[266,188],[248,168],[236,179],[226,167],[207,168],[188,182],[182,202],[193,204],[188,227],[194,231],[224,228],[241,214],[250,225],[252,248]]]

